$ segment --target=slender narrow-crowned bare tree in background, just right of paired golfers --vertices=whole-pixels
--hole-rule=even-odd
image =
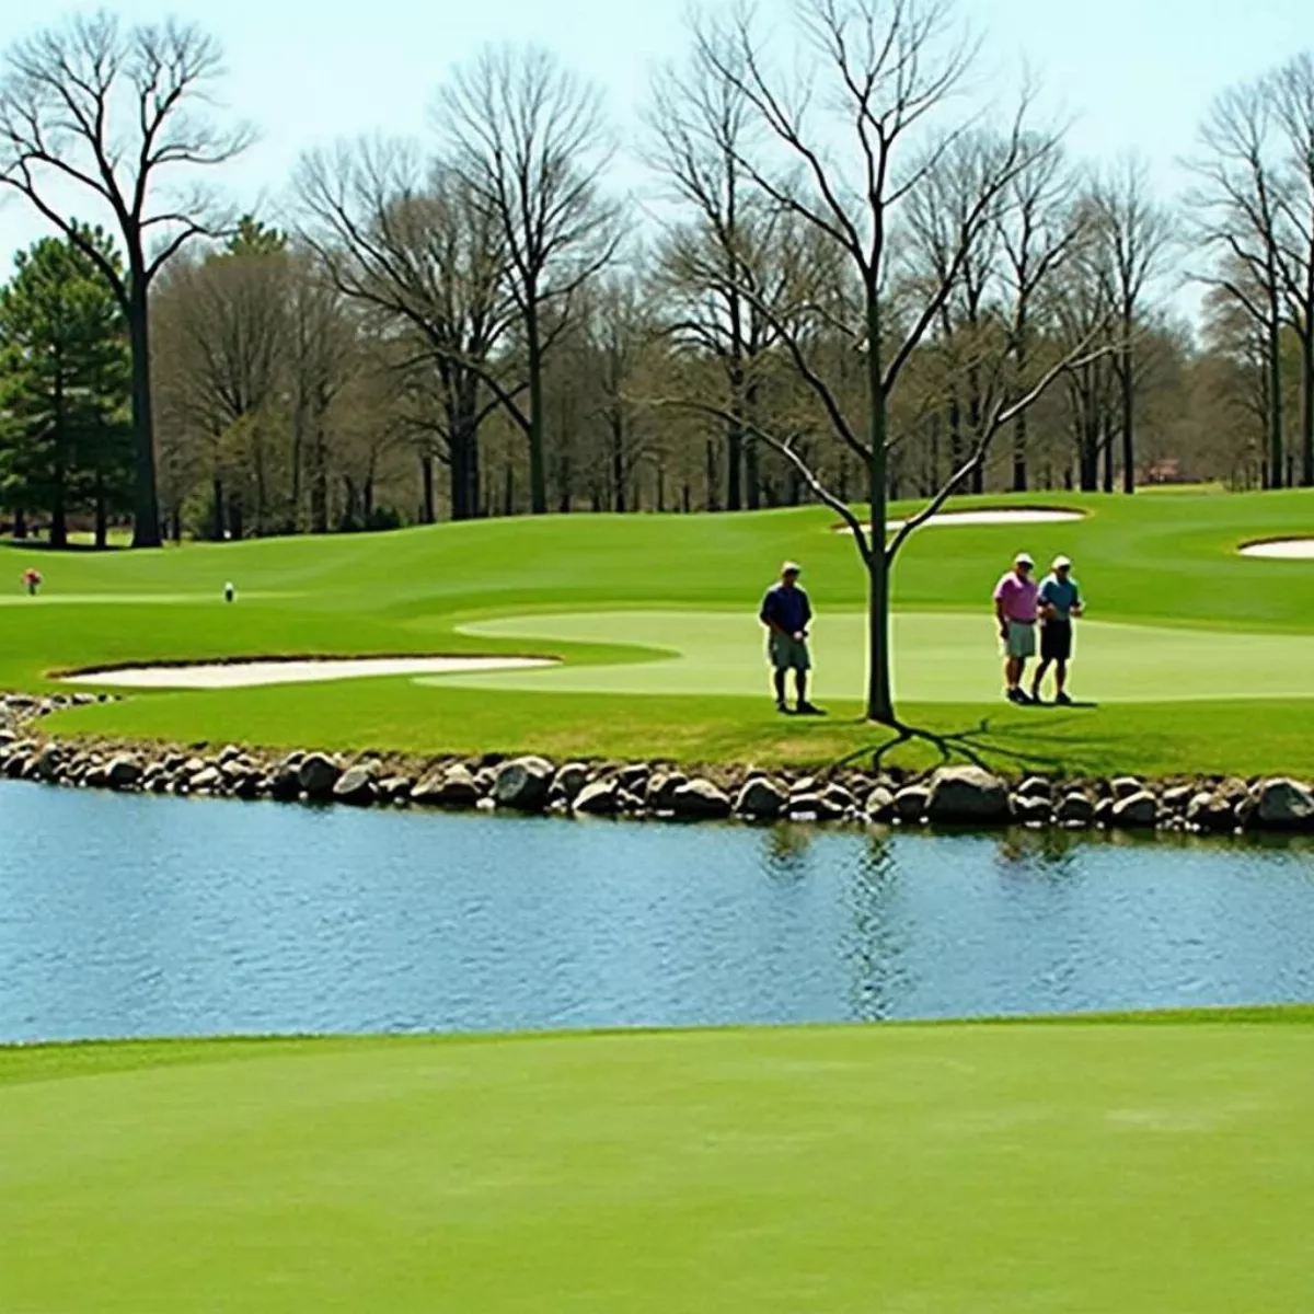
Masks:
[[[1146,289],[1163,272],[1172,242],[1172,219],[1148,192],[1146,166],[1134,155],[1100,179],[1092,192],[1095,223],[1104,248],[1101,276],[1108,281],[1117,317],[1114,372],[1122,405],[1123,493],[1134,493],[1137,487],[1137,334]]]

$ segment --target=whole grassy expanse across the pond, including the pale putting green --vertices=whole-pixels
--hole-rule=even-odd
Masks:
[[[1314,533],[1305,491],[986,505],[1081,510],[1079,523],[930,527],[896,572],[901,710],[966,733],[1000,766],[1314,774],[1314,562],[1247,560]],[[958,503],[971,506],[971,499]],[[861,723],[863,577],[817,510],[552,516],[389,535],[54,555],[0,549],[0,686],[133,661],[268,654],[530,652],[560,669],[215,692],[134,694],[66,732],[413,753],[540,750],[824,762],[882,742]],[[1076,560],[1091,602],[1075,690],[1097,707],[999,699],[989,591],[1018,548]],[[832,716],[777,719],[758,597],[800,558]],[[43,595],[21,597],[35,564]],[[225,581],[238,603],[221,599]]]

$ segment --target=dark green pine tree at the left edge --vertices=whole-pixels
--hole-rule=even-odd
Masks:
[[[80,230],[106,260],[113,244]],[[72,240],[20,252],[0,289],[0,502],[49,515],[50,543],[68,516],[131,505],[130,357],[122,311],[96,263]]]

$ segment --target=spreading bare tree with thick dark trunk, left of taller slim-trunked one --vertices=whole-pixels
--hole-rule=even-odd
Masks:
[[[298,175],[306,240],[342,292],[410,330],[406,414],[432,516],[432,453],[451,472],[455,519],[478,512],[480,426],[502,406],[518,423],[523,381],[507,377],[514,319],[502,226],[478,194],[413,147],[361,142],[307,156]]]

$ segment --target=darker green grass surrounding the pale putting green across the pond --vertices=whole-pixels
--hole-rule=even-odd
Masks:
[[[1043,494],[986,503],[1063,505],[1087,516],[926,530],[900,558],[897,608],[983,611],[999,570],[1026,547],[1042,561],[1060,551],[1074,556],[1102,620],[1192,627],[1202,644],[1209,629],[1254,633],[1256,643],[1264,633],[1314,632],[1314,566],[1236,555],[1244,541],[1314,531],[1307,493]],[[46,595],[35,604],[14,597],[0,606],[0,686],[50,689],[53,671],[152,660],[523,650],[523,643],[476,639],[459,627],[527,611],[674,604],[750,612],[784,556],[804,561],[820,607],[857,608],[863,579],[854,547],[830,524],[817,510],[576,515],[154,553],[43,552],[37,564]],[[20,548],[0,553],[0,570],[12,568],[16,590],[28,556]],[[234,607],[221,600],[227,579],[238,587]],[[67,597],[80,600],[60,602]],[[548,648],[577,665],[646,656],[616,645]],[[882,742],[858,720],[858,692],[834,702],[828,721],[802,724],[778,720],[756,689],[742,698],[674,698],[386,679],[134,694],[55,725],[70,733],[419,754],[526,749],[819,763]],[[1314,774],[1314,699],[1221,696],[1041,716],[996,704],[903,711],[937,731],[971,732],[976,750],[1018,770]],[[916,750],[905,757],[908,765],[924,759]]]

